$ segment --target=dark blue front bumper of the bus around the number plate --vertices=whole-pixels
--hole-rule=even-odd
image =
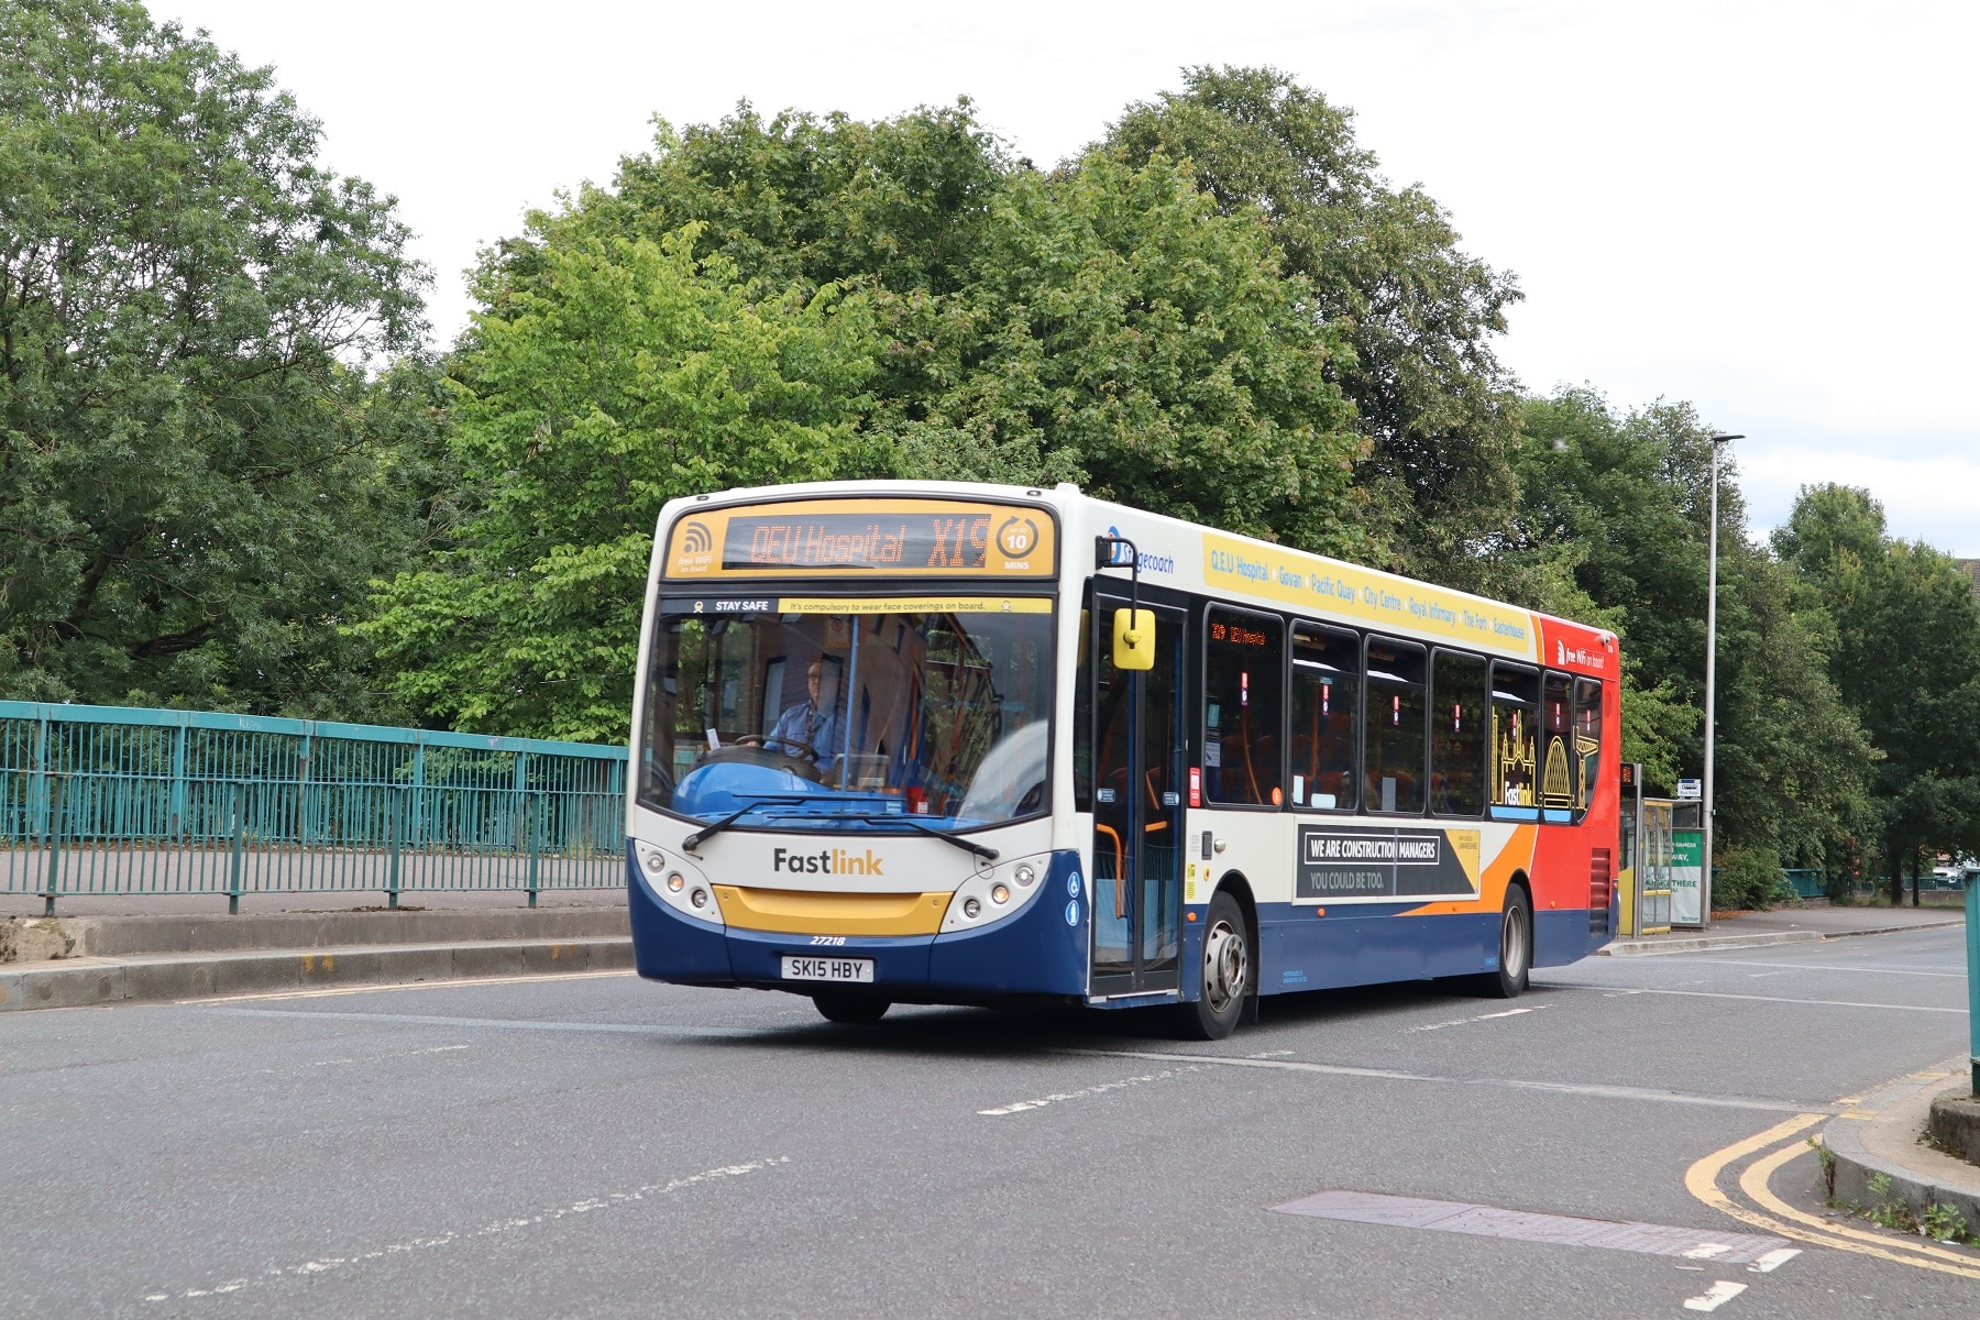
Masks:
[[[1012,916],[933,936],[824,936],[739,930],[681,916],[626,859],[640,976],[683,986],[752,986],[816,993],[845,988],[901,1003],[1079,999],[1087,991],[1087,896],[1079,853],[1051,853],[1038,893]],[[832,936],[840,940],[840,936]],[[873,982],[784,980],[784,958],[871,958]]]

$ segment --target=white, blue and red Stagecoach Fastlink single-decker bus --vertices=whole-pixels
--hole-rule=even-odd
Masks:
[[[659,515],[626,809],[640,974],[1172,1005],[1614,930],[1616,635],[1091,499],[820,483]]]

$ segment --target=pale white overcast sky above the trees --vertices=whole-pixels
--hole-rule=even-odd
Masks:
[[[1049,164],[1180,65],[1273,63],[1519,277],[1499,352],[1529,388],[1744,431],[1756,530],[1847,481],[1980,556],[1972,0],[152,2],[275,65],[329,164],[400,198],[442,340],[475,247],[608,182],[651,115],[968,95]]]

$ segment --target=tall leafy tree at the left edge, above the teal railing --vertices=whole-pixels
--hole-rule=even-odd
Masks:
[[[350,716],[424,275],[319,127],[137,4],[0,8],[0,691]]]

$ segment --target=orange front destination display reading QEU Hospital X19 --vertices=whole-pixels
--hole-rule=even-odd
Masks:
[[[972,501],[788,501],[675,522],[669,578],[1024,576],[1055,566],[1051,515]]]

